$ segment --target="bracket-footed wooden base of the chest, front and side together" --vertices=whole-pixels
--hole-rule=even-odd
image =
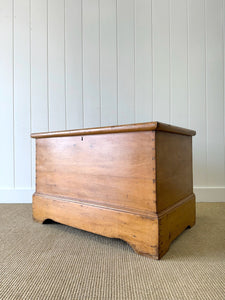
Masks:
[[[160,259],[171,242],[187,227],[195,224],[195,196],[181,201],[160,217],[133,214],[71,199],[33,195],[33,218],[39,223],[51,219],[58,223],[119,238],[138,254]]]

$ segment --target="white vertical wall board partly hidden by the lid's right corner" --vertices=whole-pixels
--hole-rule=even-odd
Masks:
[[[193,139],[194,183],[207,185],[206,36],[204,0],[188,3],[188,96]]]

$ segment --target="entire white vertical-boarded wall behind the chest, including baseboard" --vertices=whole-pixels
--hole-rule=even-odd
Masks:
[[[31,202],[31,132],[193,128],[198,201],[225,201],[225,0],[0,0],[0,202]]]

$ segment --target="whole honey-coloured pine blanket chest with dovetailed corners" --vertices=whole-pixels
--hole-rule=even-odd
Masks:
[[[193,135],[159,122],[31,134],[34,220],[119,238],[160,259],[195,224]]]

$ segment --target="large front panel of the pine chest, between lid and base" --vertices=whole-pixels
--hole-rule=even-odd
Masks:
[[[37,140],[37,192],[156,211],[155,132]]]

